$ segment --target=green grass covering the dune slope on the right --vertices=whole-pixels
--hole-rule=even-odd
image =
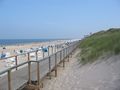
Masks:
[[[79,45],[82,64],[91,63],[105,54],[120,53],[120,29],[111,28],[84,38]]]

